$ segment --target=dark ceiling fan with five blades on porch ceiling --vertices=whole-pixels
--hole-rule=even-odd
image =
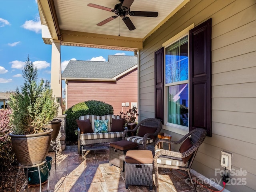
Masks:
[[[139,16],[139,17],[157,17],[158,16],[158,12],[130,11],[130,6],[134,2],[134,0],[119,0],[119,1],[120,1],[120,3],[116,4],[114,9],[104,7],[104,6],[100,6],[100,5],[96,5],[96,4],[92,4],[92,3],[89,3],[87,5],[89,7],[110,11],[110,12],[113,12],[113,13],[116,14],[114,16],[111,16],[110,18],[107,18],[107,19],[103,20],[102,22],[99,22],[97,24],[98,26],[102,26],[102,25],[114,20],[118,16],[120,16],[122,18],[122,20],[124,21],[124,23],[126,24],[126,26],[128,27],[128,29],[131,31],[131,30],[134,30],[136,28],[135,28],[134,24],[132,23],[132,21],[130,20],[130,18],[127,15]]]

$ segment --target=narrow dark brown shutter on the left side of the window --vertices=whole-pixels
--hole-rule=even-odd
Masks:
[[[164,48],[155,52],[155,118],[164,124]]]

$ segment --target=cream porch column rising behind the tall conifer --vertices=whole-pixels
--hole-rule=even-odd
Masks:
[[[61,60],[60,60],[60,40],[52,41],[52,70],[51,88],[57,102],[60,104],[58,116],[62,115],[62,85],[61,85]]]

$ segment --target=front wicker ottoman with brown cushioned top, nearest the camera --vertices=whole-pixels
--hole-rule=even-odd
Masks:
[[[153,155],[150,150],[129,150],[125,157],[125,187],[144,185],[153,189]]]

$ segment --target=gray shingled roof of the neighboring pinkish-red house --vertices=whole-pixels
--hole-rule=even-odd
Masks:
[[[108,62],[70,60],[62,78],[113,78],[137,63],[137,57],[121,55],[109,55]]]

